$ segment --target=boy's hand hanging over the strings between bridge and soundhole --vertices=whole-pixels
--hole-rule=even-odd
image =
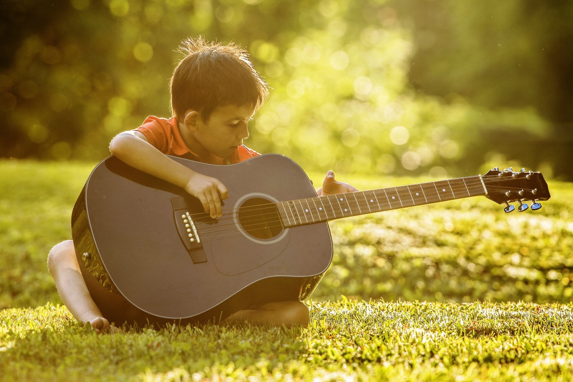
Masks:
[[[222,216],[221,200],[229,198],[229,192],[218,179],[195,172],[187,182],[185,191],[199,199],[211,218]]]

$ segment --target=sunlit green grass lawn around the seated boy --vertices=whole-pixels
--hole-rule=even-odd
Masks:
[[[97,336],[59,305],[46,268],[94,164],[0,162],[0,380],[573,377],[572,184],[550,182],[535,212],[472,198],[332,222],[309,328]],[[424,181],[337,178],[362,190]]]

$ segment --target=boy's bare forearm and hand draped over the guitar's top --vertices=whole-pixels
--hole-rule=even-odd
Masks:
[[[201,201],[211,218],[221,217],[221,199],[228,197],[223,183],[170,159],[148,143],[143,133],[126,131],[116,135],[109,144],[109,151],[131,167],[185,188]]]

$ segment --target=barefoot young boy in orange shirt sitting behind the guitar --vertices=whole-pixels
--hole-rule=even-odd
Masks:
[[[221,45],[201,37],[183,41],[186,56],[171,77],[169,120],[148,117],[139,128],[111,141],[111,153],[132,167],[185,188],[197,197],[212,218],[222,215],[227,188],[218,179],[198,174],[166,155],[210,164],[231,164],[260,155],[242,144],[249,136],[248,121],[268,97],[269,86],[253,68],[248,53],[233,43]],[[356,191],[336,182],[328,171],[317,195]],[[72,241],[54,246],[48,268],[58,293],[73,316],[90,322],[96,332],[118,330],[103,317],[81,275]],[[128,310],[128,306],[117,305]],[[126,313],[128,316],[128,314]],[[272,325],[308,325],[308,308],[300,301],[270,302],[240,310],[224,322],[249,321]]]

